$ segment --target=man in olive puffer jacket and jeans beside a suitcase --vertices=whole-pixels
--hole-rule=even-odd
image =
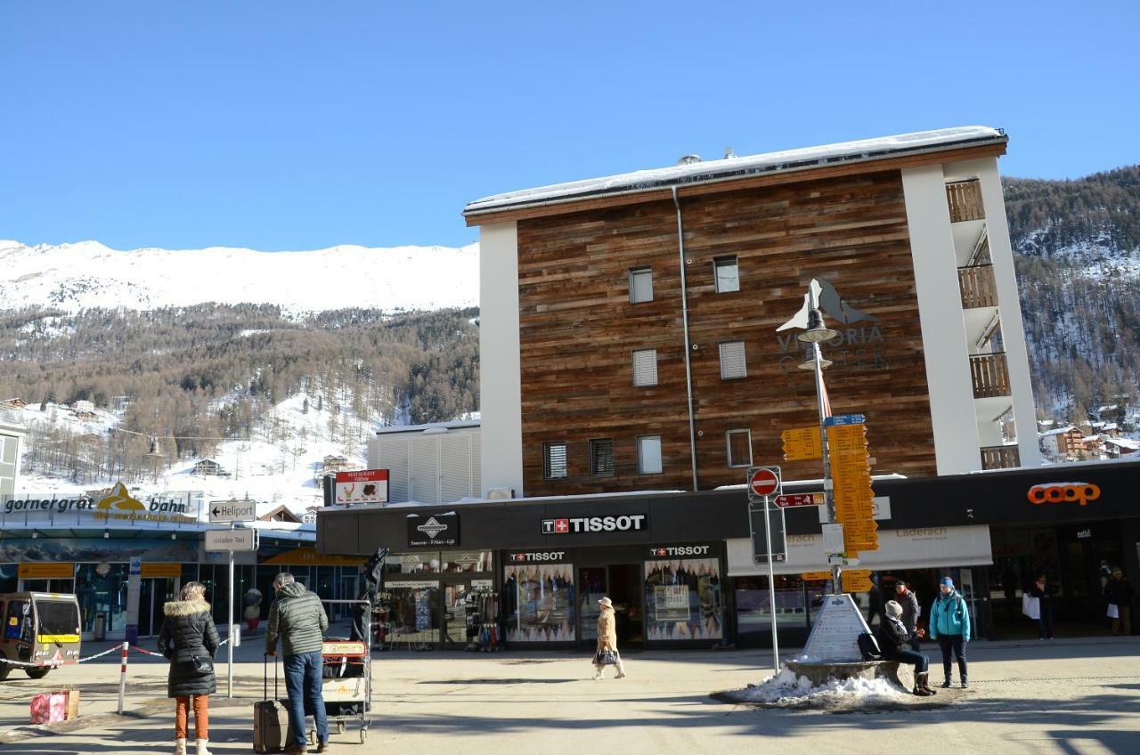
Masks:
[[[293,575],[283,571],[274,577],[277,600],[269,608],[266,626],[266,655],[277,655],[280,639],[284,656],[285,691],[288,693],[288,725],[293,741],[285,747],[286,755],[308,753],[304,740],[304,712],[312,712],[317,724],[317,752],[328,748],[328,717],[320,692],[321,650],[328,615],[320,599],[308,592]]]

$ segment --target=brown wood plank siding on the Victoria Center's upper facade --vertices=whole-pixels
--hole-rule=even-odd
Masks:
[[[792,331],[808,281],[828,279],[876,320],[841,324],[825,355],[834,413],[868,415],[874,469],[935,474],[918,298],[897,170],[682,200],[699,488],[743,482],[725,433],[748,429],[755,464],[781,463],[780,431],[816,422]],[[522,220],[519,308],[523,484],[528,496],[690,489],[677,218],[670,201]],[[718,293],[714,261],[734,255],[740,290]],[[653,299],[629,301],[650,267]],[[718,344],[743,341],[746,378],[722,380]],[[656,349],[658,384],[635,388],[633,351]],[[638,476],[636,439],[659,435],[663,472]],[[612,438],[614,471],[592,477],[592,438]],[[568,474],[545,480],[543,444],[565,441]],[[819,462],[785,477],[820,476]]]

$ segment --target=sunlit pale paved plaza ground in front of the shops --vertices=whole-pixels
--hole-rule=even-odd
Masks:
[[[211,701],[211,749],[218,755],[250,752],[252,704],[261,698],[261,649],[253,641],[237,649],[233,700],[225,697],[226,667],[219,664],[221,695]],[[756,709],[709,698],[771,674],[771,652],[764,650],[629,651],[629,677],[601,682],[589,680],[588,653],[378,652],[367,744],[358,744],[355,728],[332,741],[335,750],[361,754],[446,747],[465,755],[522,749],[580,755],[597,748],[598,736],[626,754],[768,752],[764,745],[782,755],[880,754],[888,745],[942,752],[946,742],[959,752],[1134,750],[1140,639],[975,642],[969,652],[971,690],[961,703],[873,715]],[[165,752],[173,726],[166,667],[138,658],[131,657],[128,716],[111,713],[117,657],[68,666],[39,682],[14,673],[0,685],[3,750]],[[939,676],[939,659],[931,660]],[[83,716],[74,728],[46,733],[17,726],[27,720],[32,693],[60,684],[82,690]]]

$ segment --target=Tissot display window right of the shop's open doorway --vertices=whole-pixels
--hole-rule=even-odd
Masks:
[[[646,640],[719,640],[723,635],[718,559],[645,562]]]

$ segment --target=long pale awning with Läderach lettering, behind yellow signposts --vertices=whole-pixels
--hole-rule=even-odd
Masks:
[[[726,541],[728,576],[764,576],[767,563],[752,563],[752,543],[748,538]],[[990,527],[920,527],[915,529],[880,529],[879,550],[860,554],[860,569],[937,569],[944,567],[990,566]],[[788,560],[775,563],[776,574],[824,571],[828,554],[822,535],[789,535]]]

